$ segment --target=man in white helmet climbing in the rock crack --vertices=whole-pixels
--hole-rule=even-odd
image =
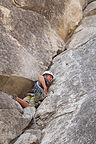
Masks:
[[[53,80],[53,73],[45,71],[36,82],[32,90],[27,93],[27,96],[22,100],[13,95],[13,99],[19,102],[24,108],[27,106],[38,107],[40,103],[47,97],[48,88]]]

